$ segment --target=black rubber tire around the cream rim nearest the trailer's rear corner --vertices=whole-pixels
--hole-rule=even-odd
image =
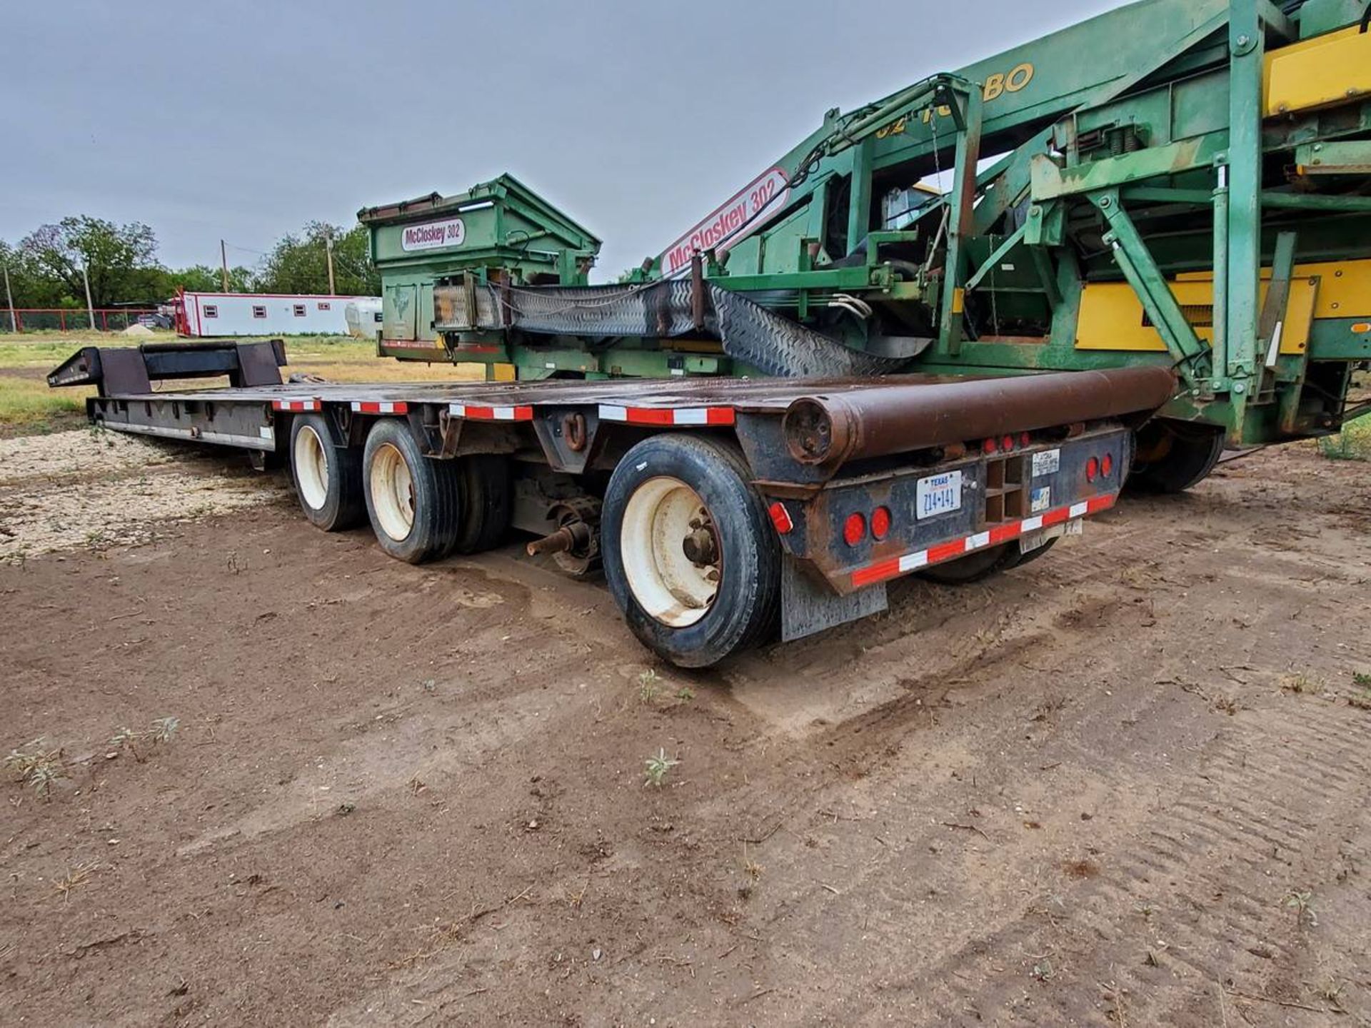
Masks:
[[[632,576],[642,581],[644,567],[655,570],[661,563],[651,556],[651,540],[658,533],[650,528],[655,521],[644,532],[643,521],[635,513],[636,524],[629,525],[629,537],[625,533],[625,513],[635,493],[646,487],[643,495],[650,496],[666,480],[692,489],[713,525],[709,546],[717,554],[713,562],[716,589],[710,602],[681,607],[683,618],[698,618],[691,624],[672,625],[654,615],[631,584]],[[736,445],[703,436],[661,435],[629,450],[605,491],[600,550],[610,595],[624,611],[633,635],[680,668],[717,663],[729,654],[764,641],[779,624],[780,543],[766,503],[750,480],[751,473]],[[661,552],[659,544],[655,552]],[[632,570],[627,566],[628,561],[632,561]]]

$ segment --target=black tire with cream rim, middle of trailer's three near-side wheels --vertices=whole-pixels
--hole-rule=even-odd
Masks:
[[[409,474],[407,503],[396,484],[396,462]],[[362,482],[366,514],[381,550],[407,563],[451,552],[462,525],[461,472],[455,461],[424,456],[403,421],[377,421],[366,435]]]

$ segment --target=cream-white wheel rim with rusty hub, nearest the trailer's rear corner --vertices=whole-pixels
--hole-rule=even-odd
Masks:
[[[713,536],[712,554],[687,555],[687,540]],[[624,506],[618,536],[624,576],[633,599],[670,628],[688,628],[718,595],[723,558],[717,526],[699,493],[679,478],[648,478]]]

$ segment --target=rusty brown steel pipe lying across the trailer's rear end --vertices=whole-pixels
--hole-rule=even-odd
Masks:
[[[1004,378],[876,387],[801,396],[781,429],[791,456],[836,466],[890,454],[1154,411],[1171,399],[1167,367],[1053,371]]]

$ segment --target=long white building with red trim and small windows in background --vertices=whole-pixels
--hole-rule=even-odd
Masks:
[[[351,333],[370,339],[380,328],[381,297],[378,296],[182,292],[177,297],[177,332],[182,336]]]

